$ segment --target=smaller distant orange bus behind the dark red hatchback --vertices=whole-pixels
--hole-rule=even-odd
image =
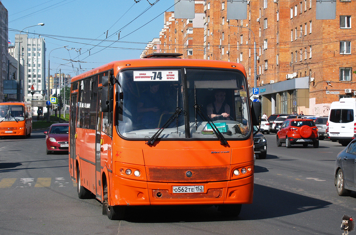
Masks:
[[[0,103],[0,137],[30,137],[32,132],[31,103],[9,101]]]

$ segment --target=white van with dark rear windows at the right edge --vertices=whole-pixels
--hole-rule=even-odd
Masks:
[[[356,98],[341,98],[331,103],[328,138],[346,146],[356,137]]]

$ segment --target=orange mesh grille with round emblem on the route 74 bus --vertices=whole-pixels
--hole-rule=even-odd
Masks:
[[[191,177],[188,177],[192,172]],[[147,180],[153,182],[211,182],[229,179],[229,167],[146,167]]]

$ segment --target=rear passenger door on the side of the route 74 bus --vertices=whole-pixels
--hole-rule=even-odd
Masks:
[[[77,97],[72,95],[70,97],[70,133],[69,133],[69,172],[70,176],[74,179],[75,174],[75,128],[77,126]]]

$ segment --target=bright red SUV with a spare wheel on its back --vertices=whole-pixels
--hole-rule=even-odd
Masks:
[[[287,119],[277,132],[277,146],[282,146],[282,143],[286,143],[287,148],[290,148],[292,144],[303,144],[304,147],[312,144],[314,148],[318,148],[318,127],[312,119]]]

